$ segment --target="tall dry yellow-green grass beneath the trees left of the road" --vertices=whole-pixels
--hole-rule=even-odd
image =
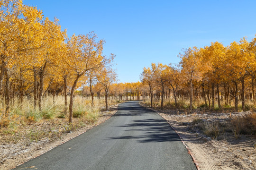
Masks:
[[[118,102],[119,101],[116,100],[109,100],[109,105],[114,105]],[[100,101],[96,98],[94,100],[94,106],[94,108],[91,108],[91,98],[75,96],[73,117],[78,118],[79,120],[68,126],[72,126],[73,129],[97,121],[100,111],[105,108],[105,102],[104,100]],[[42,101],[42,110],[34,109],[33,99],[29,100],[24,98],[23,107],[21,107],[16,98],[14,104],[10,106],[8,116],[5,116],[4,106],[0,104],[0,134],[13,133],[13,131],[20,126],[24,127],[34,122],[55,118],[68,118],[68,115],[64,115],[64,97],[55,97],[54,104],[52,97],[46,96]],[[67,127],[67,129],[69,128],[70,127]],[[37,134],[37,132],[31,131],[30,134]]]

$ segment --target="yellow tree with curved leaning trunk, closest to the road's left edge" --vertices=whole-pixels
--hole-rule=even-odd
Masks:
[[[72,122],[73,117],[73,93],[77,87],[78,80],[87,71],[96,70],[109,65],[114,58],[102,55],[103,40],[97,40],[97,35],[93,32],[86,35],[73,35],[67,41],[68,57],[66,59],[69,69],[74,72],[73,85],[70,93],[69,104],[69,122]]]

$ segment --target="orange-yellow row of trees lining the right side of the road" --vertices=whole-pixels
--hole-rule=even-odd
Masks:
[[[157,65],[152,63],[151,68],[144,68],[141,81],[147,85],[152,98],[155,88],[161,89],[161,108],[165,92],[172,89],[177,107],[177,94],[189,97],[190,110],[194,97],[201,97],[205,106],[221,108],[221,100],[225,105],[234,101],[238,111],[240,99],[242,109],[245,110],[246,99],[255,102],[256,81],[256,38],[247,42],[242,38],[240,42],[232,42],[225,47],[222,43],[212,42],[204,48],[189,48],[179,54],[180,63]]]

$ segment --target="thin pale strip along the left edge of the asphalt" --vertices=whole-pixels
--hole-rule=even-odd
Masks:
[[[124,102],[121,102],[121,103],[124,103]],[[118,103],[118,104],[116,104],[116,105],[114,105],[114,106],[112,106],[112,107],[110,106],[110,109],[112,109],[112,108],[114,108],[114,107],[117,107],[117,110],[115,110],[115,112],[114,112],[108,119],[110,119],[114,114],[117,113],[117,111],[118,111],[118,106],[119,106],[119,104],[121,104],[121,103]],[[108,120],[108,119],[106,119],[106,120]],[[26,162],[28,162],[28,161],[30,161],[30,160],[32,160],[32,159],[37,158],[38,156],[40,156],[40,155],[42,155],[42,154],[44,154],[44,153],[46,153],[46,152],[49,152],[50,150],[54,149],[55,147],[58,147],[58,146],[60,146],[60,145],[62,145],[62,144],[64,144],[64,143],[70,141],[71,139],[73,139],[73,138],[75,138],[75,137],[77,137],[77,136],[82,135],[83,133],[87,132],[88,130],[90,130],[90,129],[94,128],[94,127],[97,127],[98,125],[101,125],[101,124],[104,123],[106,120],[102,121],[101,123],[99,123],[99,124],[97,124],[97,125],[95,125],[95,126],[89,128],[89,129],[86,129],[84,132],[81,132],[81,133],[79,133],[79,134],[76,135],[76,136],[73,136],[73,137],[71,137],[71,138],[66,139],[66,140],[63,141],[62,143],[57,144],[57,145],[55,145],[55,146],[49,148],[48,150],[46,150],[46,151],[44,151],[44,152],[42,152],[42,153],[40,153],[40,154],[38,154],[38,155],[36,155],[36,156],[31,157],[31,158],[28,159],[27,161],[24,161],[24,162],[22,162],[22,163],[16,165],[15,167],[11,168],[10,170],[12,170],[12,169],[14,169],[14,168],[17,168],[18,166],[20,166],[20,165],[22,165],[22,164],[24,164],[24,163],[26,163]]]

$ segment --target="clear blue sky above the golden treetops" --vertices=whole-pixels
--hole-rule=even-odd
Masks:
[[[183,48],[225,46],[256,34],[256,0],[24,0],[72,34],[94,31],[116,55],[120,82],[152,62],[178,63]]]

